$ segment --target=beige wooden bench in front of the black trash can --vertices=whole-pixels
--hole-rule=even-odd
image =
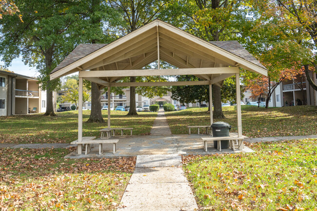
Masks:
[[[222,137],[202,137],[201,139],[204,141],[204,150],[207,152],[207,143],[208,141],[217,141],[217,149],[221,152],[221,140],[229,140],[229,147],[235,150],[243,150],[243,140],[247,138],[247,136],[242,135],[242,137],[238,137],[237,133],[229,133],[229,136]],[[236,142],[236,143],[235,143]],[[237,149],[236,149],[237,148]]]

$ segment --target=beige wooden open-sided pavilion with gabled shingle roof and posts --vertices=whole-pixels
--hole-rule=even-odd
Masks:
[[[158,69],[141,68],[158,61]],[[160,69],[164,60],[179,69]],[[267,69],[238,41],[207,42],[156,19],[109,44],[79,44],[50,74],[50,79],[79,72],[78,140],[82,140],[82,79],[95,82],[101,90],[114,86],[221,87],[224,79],[236,75],[238,137],[242,137],[239,68],[267,76]],[[119,82],[123,77],[194,75],[201,81]],[[110,105],[110,97],[108,97]],[[212,102],[210,123],[213,123]],[[110,109],[108,109],[110,128]]]

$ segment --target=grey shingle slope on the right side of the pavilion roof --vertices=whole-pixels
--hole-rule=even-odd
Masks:
[[[237,40],[212,41],[209,43],[266,69],[256,58],[254,58],[247,50],[245,50],[245,48]]]

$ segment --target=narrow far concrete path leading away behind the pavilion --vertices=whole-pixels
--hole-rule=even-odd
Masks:
[[[163,109],[159,109],[158,116],[156,117],[153,127],[151,129],[152,135],[171,135],[170,127]]]

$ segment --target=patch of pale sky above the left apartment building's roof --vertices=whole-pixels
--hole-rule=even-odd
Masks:
[[[4,66],[4,62],[1,61],[0,58],[0,65]],[[28,65],[24,65],[21,58],[15,58],[12,60],[11,66],[7,67],[10,71],[14,73],[29,76],[29,77],[37,77],[39,73],[35,67],[29,67]]]

